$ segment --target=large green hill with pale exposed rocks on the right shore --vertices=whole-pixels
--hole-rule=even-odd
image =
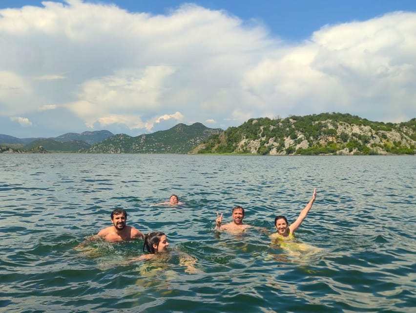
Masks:
[[[190,153],[386,155],[416,152],[416,119],[394,124],[345,113],[252,118]]]

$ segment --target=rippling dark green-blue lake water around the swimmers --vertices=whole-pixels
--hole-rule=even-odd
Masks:
[[[414,312],[414,156],[0,154],[1,312]],[[274,232],[317,189],[292,246],[213,230],[216,212]],[[153,206],[177,194],[185,204]],[[124,208],[160,230],[163,260],[129,262],[143,241],[86,241]],[[307,246],[307,251],[298,249]],[[189,273],[181,255],[192,258]]]

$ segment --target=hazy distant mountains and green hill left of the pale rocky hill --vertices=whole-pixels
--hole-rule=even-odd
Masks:
[[[55,138],[17,138],[0,134],[1,152],[83,152],[83,153],[187,153],[212,134],[222,129],[212,129],[201,123],[190,126],[178,124],[166,131],[142,134],[114,135],[108,131],[67,133]],[[39,149],[38,147],[42,147]]]

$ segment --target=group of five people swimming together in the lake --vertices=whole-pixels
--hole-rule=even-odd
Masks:
[[[312,208],[312,204],[316,198],[316,188],[313,189],[313,194],[311,200],[305,206],[305,208],[300,212],[296,221],[289,225],[287,218],[283,215],[278,215],[274,219],[274,227],[276,232],[273,233],[270,237],[272,238],[282,238],[289,239],[293,237],[293,232],[302,224],[308,215],[309,211]],[[170,196],[169,201],[160,202],[153,205],[179,205],[184,202],[179,201],[178,196]],[[152,206],[152,205],[151,205]],[[238,234],[245,232],[250,226],[249,224],[244,224],[244,208],[241,206],[236,206],[232,209],[232,222],[227,224],[222,224],[223,222],[223,213],[219,214],[217,212],[217,219],[215,221],[215,230],[218,231],[227,231],[231,234]],[[148,252],[136,260],[146,260],[155,257],[158,253],[165,252],[166,247],[169,246],[167,242],[166,234],[160,231],[150,232],[144,235],[140,230],[126,225],[127,222],[127,212],[124,209],[115,209],[111,212],[111,226],[108,226],[100,230],[97,234],[97,237],[104,239],[109,242],[119,242],[125,240],[135,240],[135,239],[144,239],[143,252]]]

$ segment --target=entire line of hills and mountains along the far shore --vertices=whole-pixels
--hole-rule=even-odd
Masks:
[[[30,143],[23,145],[26,141]],[[166,131],[136,137],[108,131],[68,133],[47,139],[0,135],[0,145],[0,153],[415,155],[416,118],[383,123],[333,112],[251,118],[226,131],[201,123],[181,123]]]

